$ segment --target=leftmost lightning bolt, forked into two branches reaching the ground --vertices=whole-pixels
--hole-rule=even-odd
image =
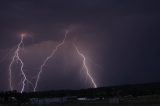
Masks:
[[[13,58],[12,58],[12,60],[11,60],[11,63],[9,64],[9,85],[10,85],[10,90],[13,90],[13,86],[12,86],[12,65],[13,65],[13,63],[15,62],[15,60],[16,60],[17,62],[20,62],[20,64],[21,64],[20,70],[21,70],[21,73],[22,73],[22,76],[23,76],[22,88],[21,88],[21,91],[20,91],[21,93],[22,93],[22,92],[24,91],[24,89],[25,89],[25,82],[28,81],[29,83],[31,83],[31,82],[27,79],[27,77],[26,77],[26,75],[25,75],[25,72],[24,72],[24,70],[23,70],[24,63],[23,63],[22,59],[19,57],[19,51],[20,51],[20,49],[21,49],[21,46],[23,45],[24,36],[25,36],[24,34],[21,35],[21,40],[20,40],[20,42],[18,43],[17,48],[16,48],[16,50],[15,50],[15,52],[14,52],[14,56],[13,56]]]

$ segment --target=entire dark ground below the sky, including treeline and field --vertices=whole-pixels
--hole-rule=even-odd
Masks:
[[[160,106],[160,83],[0,93],[0,106]]]

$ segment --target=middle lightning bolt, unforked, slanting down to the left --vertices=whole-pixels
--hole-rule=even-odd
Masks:
[[[56,51],[58,50],[58,48],[61,47],[61,46],[65,43],[67,34],[68,34],[68,31],[66,31],[65,37],[64,37],[63,41],[56,46],[56,48],[51,52],[51,54],[43,61],[43,64],[40,66],[40,71],[39,71],[38,76],[37,76],[37,79],[36,79],[36,83],[35,83],[35,87],[34,87],[34,92],[35,92],[36,89],[37,89],[38,82],[39,82],[41,73],[43,72],[44,66],[47,64],[47,62],[49,61],[49,59],[51,59],[51,58],[55,55],[55,53],[56,53]]]

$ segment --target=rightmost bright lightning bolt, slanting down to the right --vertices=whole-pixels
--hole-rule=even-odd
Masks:
[[[90,79],[90,81],[91,81],[91,83],[93,84],[94,88],[97,88],[97,84],[95,83],[95,81],[94,81],[93,77],[91,76],[91,74],[90,74],[90,72],[89,72],[89,69],[88,69],[88,67],[87,67],[87,65],[86,65],[86,58],[85,58],[85,56],[79,51],[79,49],[77,48],[76,45],[74,45],[74,47],[75,47],[78,55],[83,58],[83,67],[84,67],[84,69],[86,70],[86,74],[87,74],[88,78]]]

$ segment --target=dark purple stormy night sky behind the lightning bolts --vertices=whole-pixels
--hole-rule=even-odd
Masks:
[[[86,56],[98,87],[159,82],[159,5],[159,0],[1,0],[0,91],[9,90],[8,66],[21,33],[27,36],[20,57],[35,83],[40,65],[66,30],[65,44],[45,66],[37,90],[92,87],[73,43]],[[19,65],[12,69],[19,89]]]

